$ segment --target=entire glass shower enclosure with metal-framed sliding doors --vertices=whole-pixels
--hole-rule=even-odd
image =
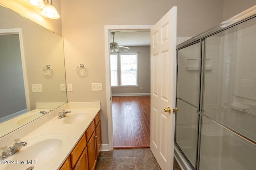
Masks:
[[[195,170],[256,169],[256,6],[177,46],[175,146]]]

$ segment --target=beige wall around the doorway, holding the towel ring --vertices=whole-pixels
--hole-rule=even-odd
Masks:
[[[108,143],[104,25],[155,24],[174,5],[178,6],[178,36],[197,35],[222,21],[223,0],[61,2],[66,82],[73,84],[68,102],[101,102],[103,143]],[[85,76],[76,73],[81,63],[88,70]],[[91,91],[95,82],[102,82],[103,91]]]

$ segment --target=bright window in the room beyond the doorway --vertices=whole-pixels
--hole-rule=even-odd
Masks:
[[[138,86],[137,53],[111,53],[111,86]]]

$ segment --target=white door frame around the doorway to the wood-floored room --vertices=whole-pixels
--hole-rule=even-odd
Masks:
[[[108,114],[108,150],[113,150],[112,92],[110,79],[110,31],[150,31],[153,25],[105,25],[106,92]],[[102,148],[103,150],[106,148]]]

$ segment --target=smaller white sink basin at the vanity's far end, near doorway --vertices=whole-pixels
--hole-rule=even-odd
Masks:
[[[55,122],[62,122],[65,124],[74,124],[74,123],[80,123],[84,121],[86,118],[88,118],[88,113],[86,112],[74,112],[74,113],[67,113],[65,117],[62,119],[56,119]]]

